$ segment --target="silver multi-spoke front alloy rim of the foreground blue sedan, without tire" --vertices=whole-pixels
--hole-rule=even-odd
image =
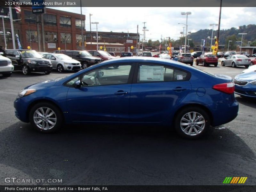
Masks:
[[[36,109],[33,119],[36,126],[42,130],[52,129],[57,122],[55,112],[48,107],[40,107]]]

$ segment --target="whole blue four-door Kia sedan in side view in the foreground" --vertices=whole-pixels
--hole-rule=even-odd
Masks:
[[[67,77],[30,85],[14,101],[15,115],[44,133],[66,124],[131,123],[174,127],[196,139],[238,112],[232,78],[173,60],[108,60]]]

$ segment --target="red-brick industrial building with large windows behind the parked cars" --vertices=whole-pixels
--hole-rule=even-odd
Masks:
[[[31,49],[41,52],[52,52],[58,47],[67,50],[82,49],[81,15],[72,12],[65,12],[46,8],[42,15],[32,13],[32,8],[21,7],[21,13],[17,14],[12,10],[14,33],[18,34],[23,49],[28,46]],[[0,15],[7,15],[9,9],[0,7]],[[19,20],[21,19],[21,20]],[[83,25],[85,15],[82,15]],[[4,19],[5,32],[11,32],[9,19]],[[0,22],[0,31],[3,31],[3,24]],[[96,50],[96,31],[85,31],[85,50]],[[139,39],[139,36],[138,36]],[[4,46],[4,36],[0,36],[1,45]],[[6,35],[7,49],[12,49],[12,35]],[[18,48],[17,39],[16,48]],[[43,43],[44,42],[44,43]],[[91,43],[92,42],[92,43]],[[136,52],[136,33],[98,32],[98,47],[105,47],[108,52],[115,52],[120,55],[124,51]],[[130,49],[133,45],[134,49]],[[103,48],[104,49],[104,48]]]

